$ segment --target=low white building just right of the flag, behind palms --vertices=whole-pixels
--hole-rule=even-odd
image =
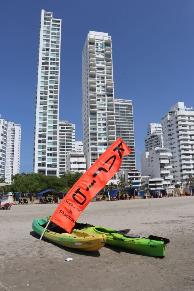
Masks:
[[[120,170],[118,177],[125,179],[125,183],[128,184],[129,180],[134,182],[133,188],[141,187],[141,172],[139,170]]]

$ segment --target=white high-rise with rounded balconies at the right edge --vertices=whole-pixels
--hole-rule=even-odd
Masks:
[[[189,174],[194,174],[194,110],[186,108],[184,102],[170,107],[162,117],[162,131],[165,148],[172,153],[171,182],[185,183]]]

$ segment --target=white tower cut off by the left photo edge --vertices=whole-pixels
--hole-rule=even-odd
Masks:
[[[5,178],[8,122],[0,114],[0,179]]]

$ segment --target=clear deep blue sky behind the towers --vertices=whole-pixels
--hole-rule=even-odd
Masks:
[[[112,36],[115,97],[133,100],[137,168],[147,125],[176,102],[193,104],[193,0],[3,1],[0,113],[21,123],[20,172],[33,168],[41,9],[62,21],[60,120],[82,140],[82,48],[89,30]],[[124,74],[125,73],[125,74]]]

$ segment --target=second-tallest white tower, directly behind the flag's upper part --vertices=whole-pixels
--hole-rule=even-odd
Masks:
[[[82,52],[83,150],[87,169],[116,138],[111,36],[89,31]]]

